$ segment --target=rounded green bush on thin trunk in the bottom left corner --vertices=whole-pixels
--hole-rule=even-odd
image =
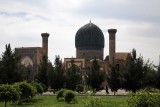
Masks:
[[[16,102],[19,97],[19,93],[13,86],[8,84],[0,85],[0,102],[5,102],[5,107],[7,102]]]

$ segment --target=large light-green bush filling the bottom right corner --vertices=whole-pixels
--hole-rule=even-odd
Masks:
[[[127,107],[160,107],[160,92],[145,90],[130,92]]]

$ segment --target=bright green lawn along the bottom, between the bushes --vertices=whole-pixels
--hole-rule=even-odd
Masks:
[[[126,96],[94,96],[100,100],[106,107],[119,107],[126,102]],[[56,96],[36,96],[33,102],[23,103],[17,107],[84,107],[85,103],[89,100],[88,96],[76,96],[76,103],[67,104],[63,101],[57,102]],[[4,107],[4,103],[0,103],[0,107]],[[8,103],[7,107],[13,107]]]

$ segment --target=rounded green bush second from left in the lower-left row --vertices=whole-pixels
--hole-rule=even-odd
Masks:
[[[14,87],[20,92],[20,102],[24,100],[30,100],[36,95],[36,89],[30,83],[15,83]]]

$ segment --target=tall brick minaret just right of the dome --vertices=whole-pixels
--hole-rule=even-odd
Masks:
[[[116,34],[117,29],[108,29],[109,33],[109,62],[113,64],[115,60],[115,50],[116,50]]]

